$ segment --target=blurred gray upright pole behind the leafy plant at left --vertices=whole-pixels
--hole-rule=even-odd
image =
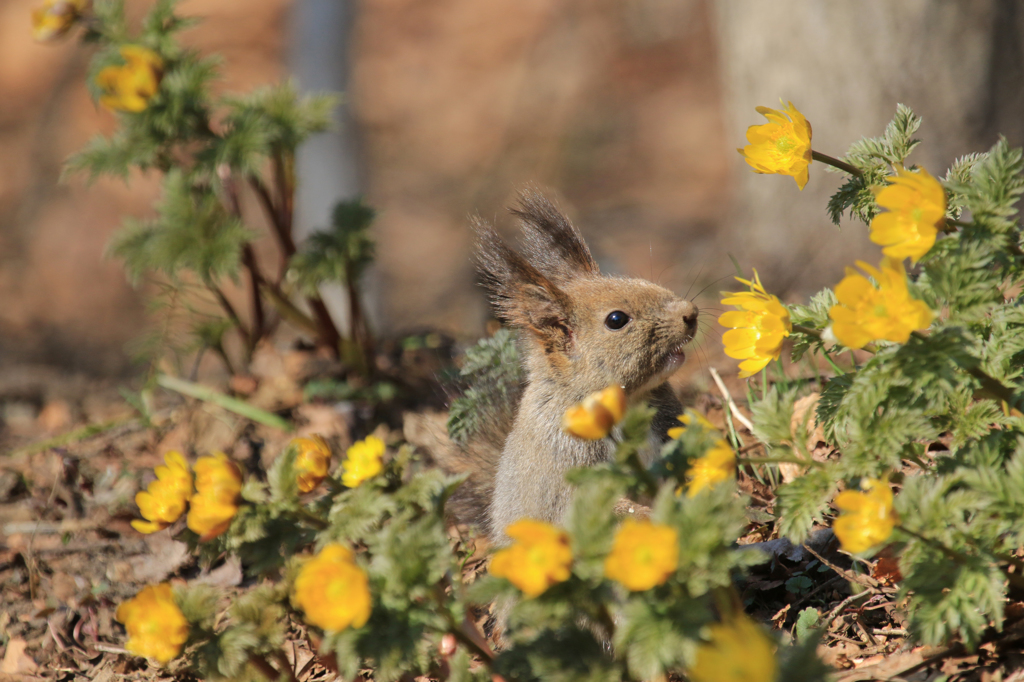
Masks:
[[[352,0],[296,0],[292,6],[291,62],[300,91],[331,91],[342,95],[334,129],[314,135],[299,147],[295,196],[295,237],[300,243],[330,224],[334,205],[362,193],[358,140],[348,106]],[[365,275],[372,280],[373,274]],[[367,293],[365,288],[364,292]],[[349,333],[348,305],[342,288],[321,288],[324,302],[343,334]],[[371,322],[376,305],[366,301]]]

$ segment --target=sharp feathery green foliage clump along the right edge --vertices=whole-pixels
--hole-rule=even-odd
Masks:
[[[920,126],[901,104],[884,135],[850,147],[850,179],[828,205],[835,222],[845,211],[871,222],[873,190],[906,165]],[[792,425],[796,392],[771,388],[752,409],[769,460],[805,467],[776,491],[779,531],[804,540],[833,515],[827,503],[844,486],[895,484],[895,527],[872,551],[888,545],[899,557],[912,634],[975,647],[988,628],[1001,628],[1008,589],[1024,584],[1022,153],[1000,139],[957,160],[942,184],[938,240],[908,278],[910,295],[937,313],[927,330],[904,343],[872,342],[844,370],[833,291],[790,306],[794,360],[818,353],[835,370],[815,418],[840,456],[819,461],[806,452],[807,434]]]

